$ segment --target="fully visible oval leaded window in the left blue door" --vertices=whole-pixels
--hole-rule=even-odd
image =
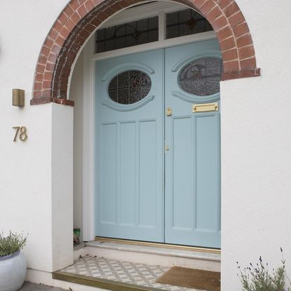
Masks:
[[[133,104],[142,100],[151,90],[148,74],[130,70],[118,74],[109,83],[108,93],[111,100],[121,104]]]

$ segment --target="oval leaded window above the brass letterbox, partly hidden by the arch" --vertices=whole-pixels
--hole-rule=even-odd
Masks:
[[[222,79],[222,60],[218,57],[204,57],[195,60],[182,69],[180,87],[187,93],[208,96],[219,93]]]

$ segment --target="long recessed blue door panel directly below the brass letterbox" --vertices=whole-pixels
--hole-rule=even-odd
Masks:
[[[219,113],[194,116],[197,231],[219,231]]]

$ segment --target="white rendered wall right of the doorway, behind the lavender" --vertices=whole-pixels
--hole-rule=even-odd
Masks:
[[[222,82],[222,290],[241,290],[236,261],[262,255],[291,274],[290,0],[237,0],[262,76]],[[280,3],[279,3],[280,2]]]

